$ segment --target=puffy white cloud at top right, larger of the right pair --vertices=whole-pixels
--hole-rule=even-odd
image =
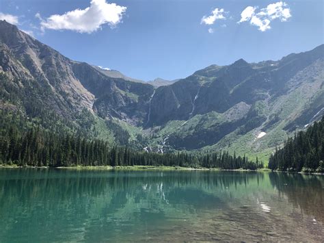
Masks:
[[[241,20],[238,23],[249,21],[251,25],[258,27],[260,31],[271,29],[270,23],[278,18],[280,21],[287,21],[291,17],[291,10],[288,5],[282,1],[271,3],[267,8],[262,8],[256,12],[258,7],[248,6],[241,12]]]

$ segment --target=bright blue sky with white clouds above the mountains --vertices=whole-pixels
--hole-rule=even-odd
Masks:
[[[20,29],[72,60],[143,80],[187,77],[239,58],[278,60],[323,44],[322,0],[106,2],[0,0],[0,18],[10,16]]]

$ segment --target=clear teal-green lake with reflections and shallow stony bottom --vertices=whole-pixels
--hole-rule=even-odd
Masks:
[[[324,239],[324,177],[0,169],[0,242]]]

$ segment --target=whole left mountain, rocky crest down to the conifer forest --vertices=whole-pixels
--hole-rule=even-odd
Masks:
[[[51,111],[73,129],[110,142],[124,137],[113,118],[141,125],[154,92],[150,84],[72,61],[5,21],[0,21],[0,67],[1,107],[15,107],[34,120]],[[36,107],[39,111],[31,112]]]

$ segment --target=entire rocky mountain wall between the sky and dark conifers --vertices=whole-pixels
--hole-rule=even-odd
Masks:
[[[323,115],[323,67],[322,44],[278,61],[241,59],[145,83],[70,60],[0,21],[0,109],[146,151],[268,157]]]

